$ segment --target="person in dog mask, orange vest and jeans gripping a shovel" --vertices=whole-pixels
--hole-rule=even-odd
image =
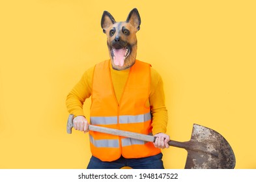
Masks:
[[[161,148],[169,148],[165,134],[167,110],[163,82],[150,64],[136,60],[141,18],[134,8],[126,21],[116,22],[104,11],[101,26],[107,35],[110,60],[87,70],[66,98],[74,128],[88,131],[83,102],[91,97],[92,125],[156,136],[143,142],[89,131],[92,157],[87,168],[164,168]]]

